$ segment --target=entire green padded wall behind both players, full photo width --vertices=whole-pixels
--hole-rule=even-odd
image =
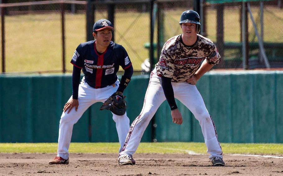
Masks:
[[[149,76],[133,76],[124,94],[132,122],[140,113]],[[220,142],[283,143],[283,72],[206,73],[197,83]],[[72,76],[0,75],[0,142],[57,142],[64,104],[72,94]],[[72,142],[118,142],[109,111],[92,105],[74,125]],[[158,142],[203,142],[193,114],[177,100],[183,124],[172,123],[165,101],[155,114]],[[177,134],[177,135],[176,135]],[[148,126],[142,142],[151,141]]]

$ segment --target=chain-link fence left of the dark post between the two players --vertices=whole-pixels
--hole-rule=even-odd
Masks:
[[[17,1],[7,1],[17,2]],[[87,1],[56,1],[7,4],[5,7],[5,72],[62,72],[79,43],[86,42]],[[108,19],[108,3],[94,3],[94,21]],[[92,24],[93,25],[93,24]],[[149,57],[150,1],[124,2],[114,6],[114,42],[125,47],[135,71]],[[92,26],[91,26],[92,28]],[[93,38],[92,38],[93,39]],[[3,61],[2,61],[3,62]]]

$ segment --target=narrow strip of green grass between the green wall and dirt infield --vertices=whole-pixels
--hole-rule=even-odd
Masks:
[[[283,144],[221,143],[223,153],[283,155]],[[118,143],[71,143],[70,153],[117,153]],[[204,143],[141,143],[136,153],[206,153]],[[0,153],[56,153],[57,143],[0,143]]]

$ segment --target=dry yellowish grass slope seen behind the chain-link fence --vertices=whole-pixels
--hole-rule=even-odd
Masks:
[[[266,7],[276,16],[264,11],[264,41],[283,42],[283,11],[277,7]],[[186,9],[165,11],[164,40],[181,33],[179,16]],[[257,20],[258,8],[252,9]],[[207,10],[207,34],[216,41],[216,10]],[[106,18],[106,11],[96,11],[95,19]],[[86,17],[84,14],[65,16],[66,68],[72,70],[70,60],[79,43],[86,41]],[[274,24],[276,19],[276,24]],[[144,43],[150,41],[149,13],[117,12],[115,14],[115,42],[123,45],[132,60],[134,70],[149,52]],[[257,20],[258,21],[258,20]],[[250,37],[253,29],[249,20]],[[225,8],[224,39],[226,42],[240,41],[239,9]],[[6,72],[36,72],[62,70],[62,43],[60,14],[10,15],[5,18]],[[156,27],[155,38],[156,42]],[[2,62],[2,61],[0,61]],[[2,63],[1,63],[2,64]]]

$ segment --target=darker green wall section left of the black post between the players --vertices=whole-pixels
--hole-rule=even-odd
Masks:
[[[125,90],[131,122],[141,111],[148,80],[135,76]],[[0,92],[0,142],[58,141],[63,106],[72,95],[72,75],[0,75]],[[118,142],[112,114],[99,111],[101,104],[92,105],[74,125],[72,142]],[[141,141],[151,141],[151,128]]]

